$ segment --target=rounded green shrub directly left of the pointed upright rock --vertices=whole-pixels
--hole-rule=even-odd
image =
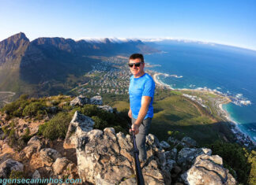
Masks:
[[[58,113],[51,120],[40,125],[39,134],[43,134],[45,138],[51,140],[65,139],[71,119],[72,117],[68,113]]]

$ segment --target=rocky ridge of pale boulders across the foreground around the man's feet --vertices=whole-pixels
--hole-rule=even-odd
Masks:
[[[74,102],[77,105],[88,102],[102,105],[100,97],[77,97],[70,104]],[[65,141],[59,142],[61,147],[56,147],[42,137],[33,136],[19,152],[20,158],[6,153],[8,146],[5,141],[1,141],[0,178],[8,178],[12,170],[25,172],[30,168],[29,165],[37,161],[39,164],[34,165],[27,176],[81,178],[83,183],[93,184],[135,184],[130,135],[115,133],[113,128],[105,128],[104,131],[93,129],[93,124],[90,117],[76,112]],[[178,150],[177,146],[182,149]],[[148,160],[142,166],[145,184],[236,183],[228,169],[223,167],[220,156],[196,146],[197,143],[188,137],[181,141],[170,137],[167,142],[160,142],[155,135],[149,134],[146,138]],[[69,158],[69,151],[76,153],[76,157]]]

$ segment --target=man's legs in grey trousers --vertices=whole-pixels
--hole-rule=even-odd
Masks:
[[[136,119],[132,117],[132,124],[134,124],[135,120]],[[140,161],[145,161],[147,159],[147,151],[145,148],[145,137],[146,135],[149,134],[151,121],[152,121],[152,118],[150,117],[143,120],[139,128],[139,133],[136,135],[136,144],[137,144],[137,149],[139,150]]]

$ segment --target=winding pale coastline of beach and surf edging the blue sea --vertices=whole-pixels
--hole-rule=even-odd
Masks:
[[[224,94],[219,94],[216,91],[209,91],[209,90],[203,89],[203,88],[200,88],[200,89],[187,89],[187,88],[175,89],[175,88],[172,88],[170,85],[160,81],[159,76],[160,75],[167,76],[166,74],[161,73],[161,72],[154,72],[154,71],[151,71],[151,72],[153,72],[153,80],[159,87],[164,87],[164,88],[167,88],[170,90],[176,90],[176,91],[198,91],[198,92],[205,91],[205,92],[208,92],[211,94],[216,94],[216,95],[219,95],[219,96],[225,98],[226,101],[219,102],[216,106],[216,109],[218,109],[220,111],[220,113],[222,113],[222,116],[221,116],[222,119],[226,120],[232,126],[231,131],[235,135],[236,142],[239,142],[240,144],[247,146],[247,147],[248,146],[253,146],[253,147],[256,146],[256,142],[254,142],[254,140],[251,139],[250,136],[247,135],[247,133],[241,131],[241,129],[238,127],[238,123],[236,123],[234,120],[232,120],[232,118],[230,117],[228,112],[223,109],[222,105],[232,102],[231,98],[229,98],[228,96],[225,96]]]

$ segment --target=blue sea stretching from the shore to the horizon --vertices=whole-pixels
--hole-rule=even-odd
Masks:
[[[145,62],[155,66],[148,69],[170,75],[159,76],[160,81],[173,88],[202,87],[231,96],[223,109],[256,142],[256,51],[179,41],[156,46],[163,52],[145,55]]]

